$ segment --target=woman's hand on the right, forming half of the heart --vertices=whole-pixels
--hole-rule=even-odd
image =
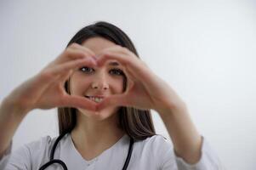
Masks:
[[[116,60],[122,65],[127,77],[127,88],[123,94],[114,94],[103,99],[98,111],[108,105],[129,106],[141,110],[166,111],[183,104],[174,90],[160,77],[157,77],[134,53],[119,45],[106,48],[97,58],[98,66],[107,60]]]

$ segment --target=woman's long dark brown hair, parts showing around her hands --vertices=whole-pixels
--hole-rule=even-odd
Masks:
[[[130,40],[127,34],[117,26],[104,21],[83,27],[71,38],[67,47],[73,42],[82,44],[82,42],[91,37],[103,37],[111,42],[115,42],[117,45],[128,48],[139,58],[134,43]],[[124,79],[124,82],[125,89],[127,84],[126,78]],[[65,82],[65,90],[70,94],[69,80]],[[142,140],[156,134],[150,110],[145,111],[133,107],[120,107],[118,110],[118,117],[119,126],[133,139]],[[77,109],[68,107],[58,108],[58,120],[60,135],[70,133],[77,124]]]

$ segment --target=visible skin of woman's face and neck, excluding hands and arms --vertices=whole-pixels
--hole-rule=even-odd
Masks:
[[[82,46],[91,50],[97,59],[97,54],[106,48],[115,47],[116,44],[94,37],[83,42]],[[82,71],[81,69],[74,71],[70,81],[71,94],[77,96],[122,94],[124,76],[117,70],[122,70],[122,66],[109,65],[109,63],[99,68],[87,67]],[[71,138],[84,159],[93,159],[122,138],[124,132],[117,127],[117,110],[118,106],[107,106],[100,111],[77,109],[77,126],[71,132]]]

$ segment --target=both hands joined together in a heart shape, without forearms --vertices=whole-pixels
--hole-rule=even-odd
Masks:
[[[82,96],[66,94],[63,87],[72,71],[82,65],[100,67],[109,59],[117,60],[123,67],[128,82],[123,94],[105,97],[100,103]],[[100,111],[110,105],[162,111],[166,108],[170,109],[181,100],[166,82],[157,77],[127,48],[118,45],[105,48],[98,57],[95,57],[93,51],[74,43],[43,68],[43,71],[15,88],[6,101],[10,105],[15,105],[16,110],[26,111],[54,107],[76,107]]]

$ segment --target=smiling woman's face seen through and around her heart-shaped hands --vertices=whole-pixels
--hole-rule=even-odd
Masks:
[[[111,48],[115,45],[114,42],[101,37],[89,38],[82,43],[82,46],[89,48],[96,55],[105,48]],[[83,97],[90,96],[88,99],[92,100],[94,100],[94,98],[91,97],[95,95],[109,96],[122,94],[124,75],[122,72],[122,65],[117,64],[117,61],[109,60],[105,65],[99,68],[92,68],[84,65],[82,68],[74,71],[70,80],[71,94]],[[100,114],[97,115],[95,115],[93,111],[80,108],[77,110],[84,116],[102,120],[115,114],[118,108],[109,106],[100,111]]]

